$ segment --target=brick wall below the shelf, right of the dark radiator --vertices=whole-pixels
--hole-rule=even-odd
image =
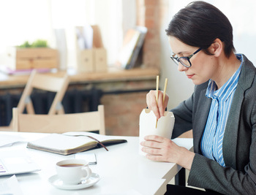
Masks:
[[[107,94],[102,97],[106,134],[139,135],[139,118],[140,112],[146,108],[146,93]]]

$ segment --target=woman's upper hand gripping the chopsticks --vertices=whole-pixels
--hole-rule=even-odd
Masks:
[[[156,115],[157,119],[165,115],[165,108],[167,107],[167,102],[169,100],[169,96],[165,93],[165,102],[163,100],[163,92],[158,91],[158,101],[156,99],[157,91],[149,91],[146,95],[146,103],[148,105],[149,110],[153,110],[154,115]]]

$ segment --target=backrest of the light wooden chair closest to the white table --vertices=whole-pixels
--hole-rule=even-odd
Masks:
[[[97,131],[105,134],[104,106],[98,111],[61,115],[23,114],[12,109],[13,129],[23,132],[64,133],[67,131]]]

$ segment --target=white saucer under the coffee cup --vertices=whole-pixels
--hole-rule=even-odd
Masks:
[[[48,181],[55,186],[56,188],[60,188],[63,190],[78,190],[82,188],[88,188],[93,186],[95,183],[99,181],[99,175],[96,173],[91,173],[91,177],[88,180],[81,180],[77,185],[66,185],[59,179],[58,175],[51,176]]]

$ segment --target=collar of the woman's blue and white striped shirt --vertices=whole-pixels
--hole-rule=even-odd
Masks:
[[[206,91],[206,96],[211,99],[219,99],[226,101],[230,94],[236,89],[240,72],[241,72],[241,66],[244,62],[244,57],[241,54],[236,54],[236,58],[241,61],[241,64],[239,68],[236,70],[236,72],[230,77],[229,80],[218,90],[217,85],[214,80],[209,80],[208,82],[208,88]]]

